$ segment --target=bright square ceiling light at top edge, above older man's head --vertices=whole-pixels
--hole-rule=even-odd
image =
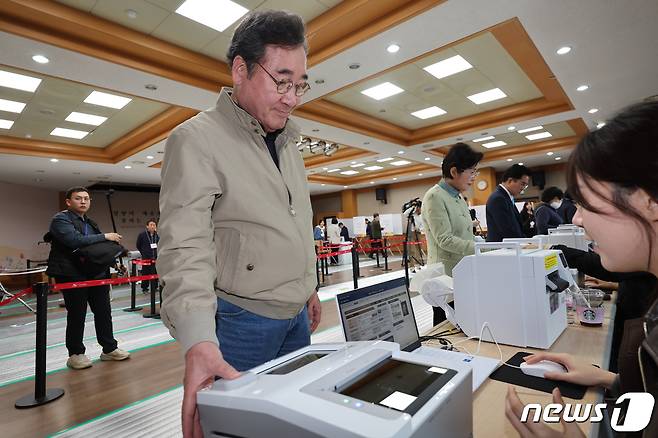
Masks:
[[[223,32],[249,9],[230,0],[186,0],[176,13]]]

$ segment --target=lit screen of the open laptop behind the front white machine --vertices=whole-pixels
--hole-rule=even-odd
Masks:
[[[338,294],[346,341],[391,341],[417,347],[418,328],[404,277]]]

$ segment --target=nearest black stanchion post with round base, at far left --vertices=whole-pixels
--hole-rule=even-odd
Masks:
[[[36,347],[34,360],[34,394],[28,394],[16,400],[17,409],[33,408],[57,400],[64,395],[61,388],[46,389],[46,343],[48,325],[48,283],[42,282],[32,286],[37,296]],[[75,293],[75,292],[73,292]]]

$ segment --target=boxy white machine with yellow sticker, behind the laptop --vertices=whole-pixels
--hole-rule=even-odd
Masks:
[[[499,343],[546,349],[567,327],[563,292],[574,280],[561,251],[476,243],[453,281],[455,318],[467,336],[492,342],[486,322]]]

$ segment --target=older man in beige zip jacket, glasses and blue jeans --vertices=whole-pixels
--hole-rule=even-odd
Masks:
[[[227,58],[234,89],[167,140],[160,192],[162,318],[185,351],[183,432],[196,392],[310,343],[320,322],[299,131],[304,24],[254,11]],[[219,348],[218,348],[219,345]]]

